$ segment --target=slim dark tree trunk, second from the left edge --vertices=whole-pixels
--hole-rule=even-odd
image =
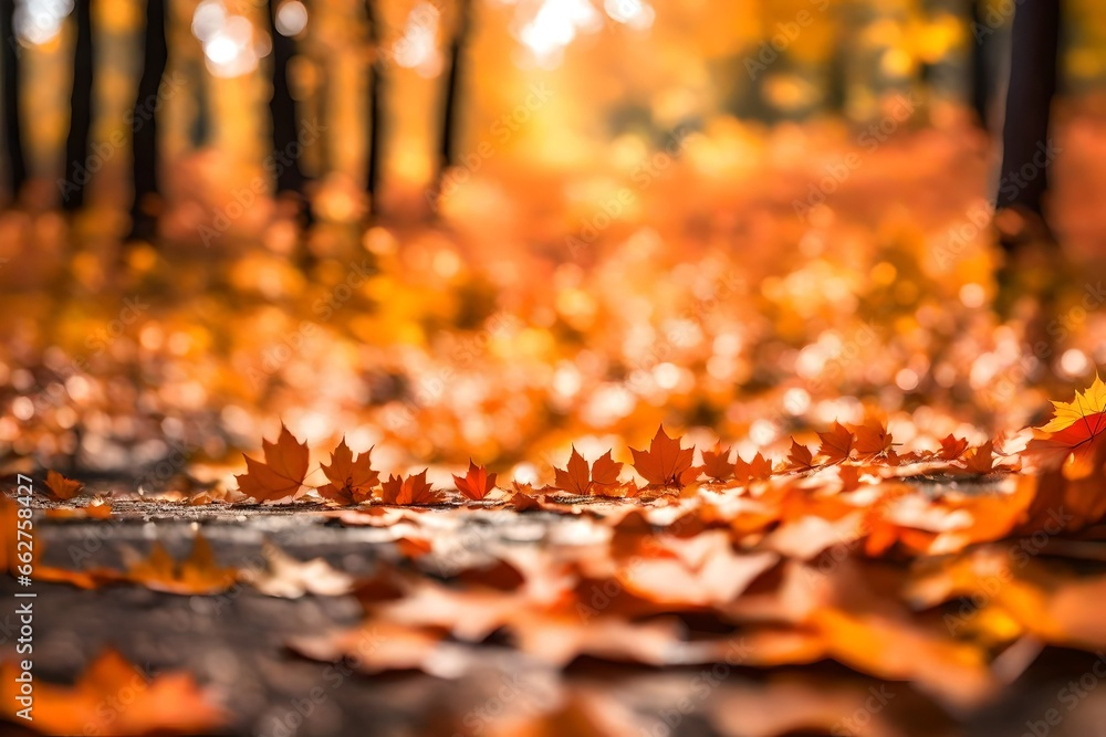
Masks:
[[[92,0],[76,0],[76,44],[73,49],[73,94],[70,97],[70,129],[65,139],[65,182],[62,207],[69,211],[84,206],[88,171],[88,134],[92,130]]]

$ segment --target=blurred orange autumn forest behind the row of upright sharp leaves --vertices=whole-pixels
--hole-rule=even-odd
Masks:
[[[1106,362],[1106,9],[1064,3],[1051,210],[1091,281],[1034,354],[991,309],[1018,7],[9,0],[4,455],[237,463],[282,417],[536,481],[660,421],[747,455],[873,408],[1022,427]]]

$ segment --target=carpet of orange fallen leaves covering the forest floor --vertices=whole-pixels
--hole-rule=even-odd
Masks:
[[[1093,162],[1092,113],[1064,140]],[[565,182],[508,207],[494,180],[457,194],[503,204],[488,219],[324,222],[307,242],[278,219],[119,262],[103,218],[0,215],[0,452],[12,488],[34,480],[0,497],[0,567],[32,569],[40,608],[75,589],[132,625],[112,607],[134,591],[150,619],[174,597],[353,611],[251,630],[272,681],[316,668],[283,706],[237,693],[227,660],[128,661],[127,631],[73,659],[82,623],[40,631],[33,726],[359,735],[337,694],[371,684],[414,704],[380,734],[1097,734],[1094,264],[1026,350],[1016,310],[992,309],[966,126],[900,131],[801,211],[851,131],[688,146],[599,229]],[[758,176],[709,178],[712,146]],[[1068,165],[1060,191],[1098,170]],[[1066,248],[1093,252],[1065,207]],[[163,539],[180,519],[190,552]],[[343,543],[226,545],[227,525],[281,520]]]

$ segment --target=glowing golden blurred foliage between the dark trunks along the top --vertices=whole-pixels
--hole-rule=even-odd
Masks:
[[[72,12],[72,0],[8,4],[21,64],[27,167],[56,190],[81,13]],[[91,140],[128,138],[145,3],[79,4],[91,7],[95,40]],[[459,115],[448,122],[452,162],[462,152],[488,159],[472,172],[476,180],[594,173],[597,164],[617,167],[691,131],[714,143],[696,157],[703,168],[748,166],[741,145],[749,126],[823,116],[876,120],[885,113],[881,101],[894,95],[924,106],[928,115],[911,116],[915,126],[947,123],[942,106],[962,104],[994,127],[1018,4],[285,0],[276,3],[273,36],[270,4],[261,0],[170,0],[169,60],[157,96],[160,150],[169,162],[164,187],[174,200],[210,202],[249,188],[262,172],[271,154],[272,38],[285,45],[285,36],[295,39],[288,72],[307,128],[301,168],[319,179],[322,214],[347,221],[366,207],[355,193],[368,166],[408,208],[403,193],[440,175],[451,84],[459,97]],[[1063,88],[1094,93],[1106,82],[1106,11],[1091,0],[1064,7]],[[458,44],[463,63],[453,83]],[[81,57],[81,75],[86,66]],[[371,95],[380,108],[376,116]],[[382,160],[371,165],[375,117]],[[477,154],[481,143],[492,156]],[[94,207],[129,198],[129,157],[111,148],[92,177]]]

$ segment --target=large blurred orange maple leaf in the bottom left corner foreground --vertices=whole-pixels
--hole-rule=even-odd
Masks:
[[[20,671],[0,666],[0,716],[15,724]],[[126,694],[125,708],[118,706]],[[103,651],[72,686],[34,678],[34,730],[45,735],[195,735],[216,729],[226,717],[205,697],[192,676],[170,672],[153,677],[114,650]]]

